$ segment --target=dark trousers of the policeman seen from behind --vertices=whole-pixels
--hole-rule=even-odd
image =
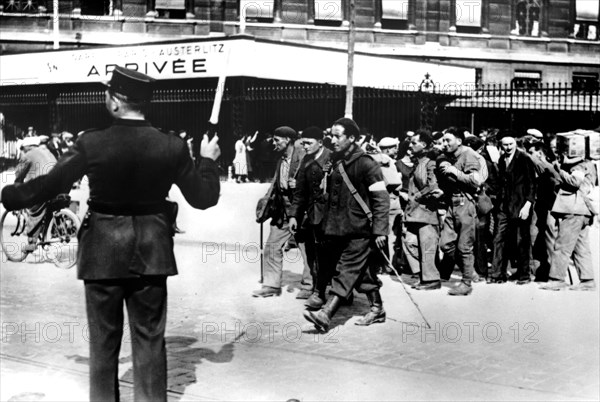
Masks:
[[[134,399],[166,401],[167,281],[165,276],[86,280],[90,342],[90,400],[118,401],[118,364],[127,306]]]

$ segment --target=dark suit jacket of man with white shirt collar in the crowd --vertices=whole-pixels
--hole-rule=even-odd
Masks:
[[[531,202],[533,208],[536,193],[535,167],[529,156],[517,149],[508,166],[506,166],[506,158],[500,158],[498,171],[500,208],[509,218],[516,219],[525,202]]]

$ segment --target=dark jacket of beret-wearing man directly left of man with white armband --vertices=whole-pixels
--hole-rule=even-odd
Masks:
[[[315,159],[315,155],[306,155],[300,164],[300,171],[296,178],[296,190],[290,216],[295,217],[298,222],[307,214],[307,223],[318,225],[323,219],[324,197],[321,181],[325,173],[323,167],[331,158],[331,151],[323,148],[321,155]]]

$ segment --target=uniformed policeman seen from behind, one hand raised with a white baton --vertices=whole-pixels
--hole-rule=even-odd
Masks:
[[[209,141],[205,136],[194,168],[186,144],[144,118],[153,81],[116,67],[106,90],[113,124],[80,134],[47,175],[2,191],[4,206],[20,209],[49,200],[88,176],[89,212],[78,234],[77,276],[85,284],[92,401],[119,400],[124,302],[135,399],[166,401],[166,282],[177,267],[174,216],[165,199],[173,183],[194,208],[214,206],[219,198],[218,138]]]

